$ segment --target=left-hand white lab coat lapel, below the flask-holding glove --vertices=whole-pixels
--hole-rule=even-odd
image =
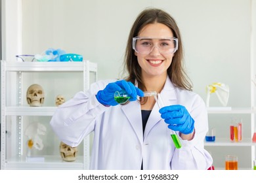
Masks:
[[[143,141],[143,131],[142,131],[142,117],[141,108],[138,101],[132,101],[128,105],[123,105],[121,110],[127,116],[133,130],[135,131],[140,142]]]

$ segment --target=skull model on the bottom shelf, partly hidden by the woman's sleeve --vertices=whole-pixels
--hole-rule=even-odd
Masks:
[[[60,156],[64,161],[75,161],[77,147],[68,146],[64,142],[60,142]]]

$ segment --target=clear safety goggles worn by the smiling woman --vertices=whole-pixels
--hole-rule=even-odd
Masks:
[[[150,54],[155,47],[161,54],[173,54],[178,50],[178,39],[133,37],[133,50],[139,54]]]

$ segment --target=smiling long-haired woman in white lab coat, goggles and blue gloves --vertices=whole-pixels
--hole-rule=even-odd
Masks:
[[[204,149],[208,130],[202,98],[182,69],[179,28],[167,12],[142,11],[129,34],[125,80],[104,80],[79,92],[56,110],[51,125],[61,141],[77,146],[94,131],[90,169],[207,169],[212,158]],[[129,101],[120,105],[116,91]],[[160,93],[161,109],[154,97]],[[175,148],[175,131],[181,148]]]

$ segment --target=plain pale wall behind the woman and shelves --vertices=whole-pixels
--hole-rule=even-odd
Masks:
[[[207,84],[223,82],[230,86],[228,106],[250,106],[251,0],[22,0],[18,54],[62,48],[98,63],[98,79],[120,77],[129,29],[146,7],[163,8],[177,20],[194,92],[205,99]],[[221,105],[215,95],[210,105]],[[246,122],[248,116],[238,118]],[[228,120],[209,116],[219,127]]]

